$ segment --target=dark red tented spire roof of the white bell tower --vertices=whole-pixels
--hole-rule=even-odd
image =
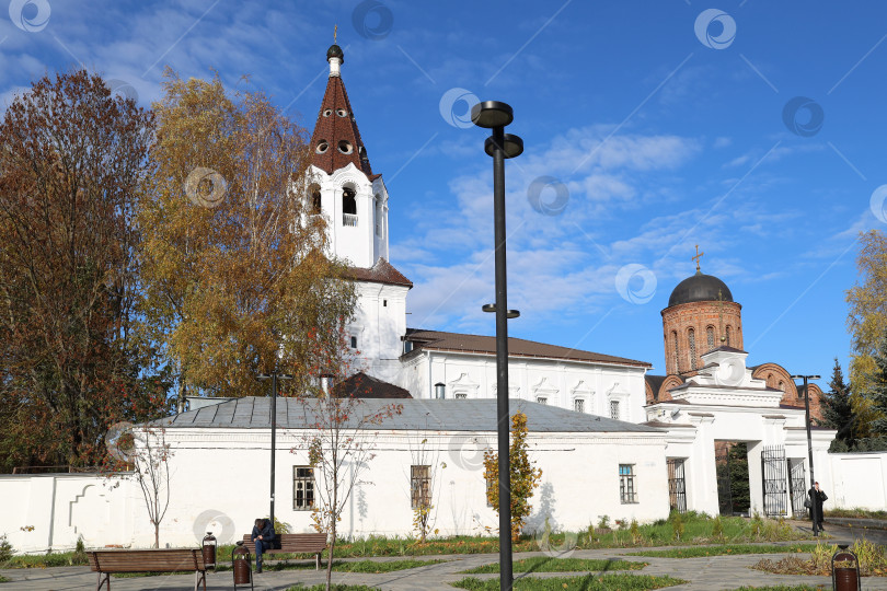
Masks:
[[[326,151],[319,154],[318,146],[321,141],[326,141],[327,148]],[[343,153],[338,149],[341,141],[350,143],[350,153]],[[373,175],[372,169],[370,169],[367,149],[360,139],[360,131],[357,130],[357,121],[348,101],[348,93],[345,92],[345,84],[339,76],[331,76],[326,83],[326,93],[323,95],[318,123],[314,125],[314,134],[311,136],[311,151],[313,152],[313,164],[326,174],[333,174],[333,171],[352,163],[358,170],[364,171],[364,174],[370,179],[379,176]]]

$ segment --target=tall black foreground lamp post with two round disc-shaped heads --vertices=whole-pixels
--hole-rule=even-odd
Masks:
[[[508,318],[518,313],[508,310],[508,280],[505,257],[505,160],[523,152],[523,140],[505,132],[515,118],[510,106],[498,101],[485,101],[471,108],[471,120],[477,127],[492,129],[484,151],[493,158],[493,221],[496,264],[496,303],[485,305],[485,312],[496,313],[496,410],[499,454],[499,588],[511,589],[511,480],[508,409]],[[495,310],[494,310],[495,309]]]

